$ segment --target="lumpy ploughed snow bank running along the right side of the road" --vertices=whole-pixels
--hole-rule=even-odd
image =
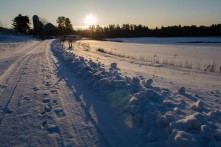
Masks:
[[[56,40],[52,43],[52,51],[99,97],[116,109],[129,111],[134,126],[145,135],[147,146],[221,144],[221,111],[207,109],[200,100],[191,105],[178,100],[177,97],[186,95],[184,87],[173,93],[154,87],[152,79],[124,77],[117,63],[105,69],[100,63],[62,49]]]

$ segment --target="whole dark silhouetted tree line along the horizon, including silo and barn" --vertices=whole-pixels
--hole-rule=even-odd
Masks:
[[[33,16],[33,29],[28,16],[19,14],[13,19],[13,28],[21,33],[32,35],[79,35],[92,39],[120,38],[120,37],[203,37],[203,36],[221,36],[221,24],[211,26],[162,26],[161,28],[150,29],[144,25],[123,24],[101,27],[100,25],[91,25],[87,29],[74,30],[69,18],[59,16],[56,20],[57,26],[49,23],[46,19]]]

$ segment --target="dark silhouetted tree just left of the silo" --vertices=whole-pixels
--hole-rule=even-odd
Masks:
[[[13,28],[21,33],[27,33],[30,30],[30,20],[28,16],[22,16],[19,14],[13,20]]]

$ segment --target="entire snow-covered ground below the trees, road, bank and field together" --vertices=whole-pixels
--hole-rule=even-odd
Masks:
[[[221,74],[142,58],[218,66],[218,43],[15,41],[0,43],[1,145],[221,146]]]

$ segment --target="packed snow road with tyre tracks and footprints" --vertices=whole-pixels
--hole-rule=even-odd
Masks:
[[[141,145],[121,114],[53,55],[51,43],[27,43],[0,74],[1,146]]]

